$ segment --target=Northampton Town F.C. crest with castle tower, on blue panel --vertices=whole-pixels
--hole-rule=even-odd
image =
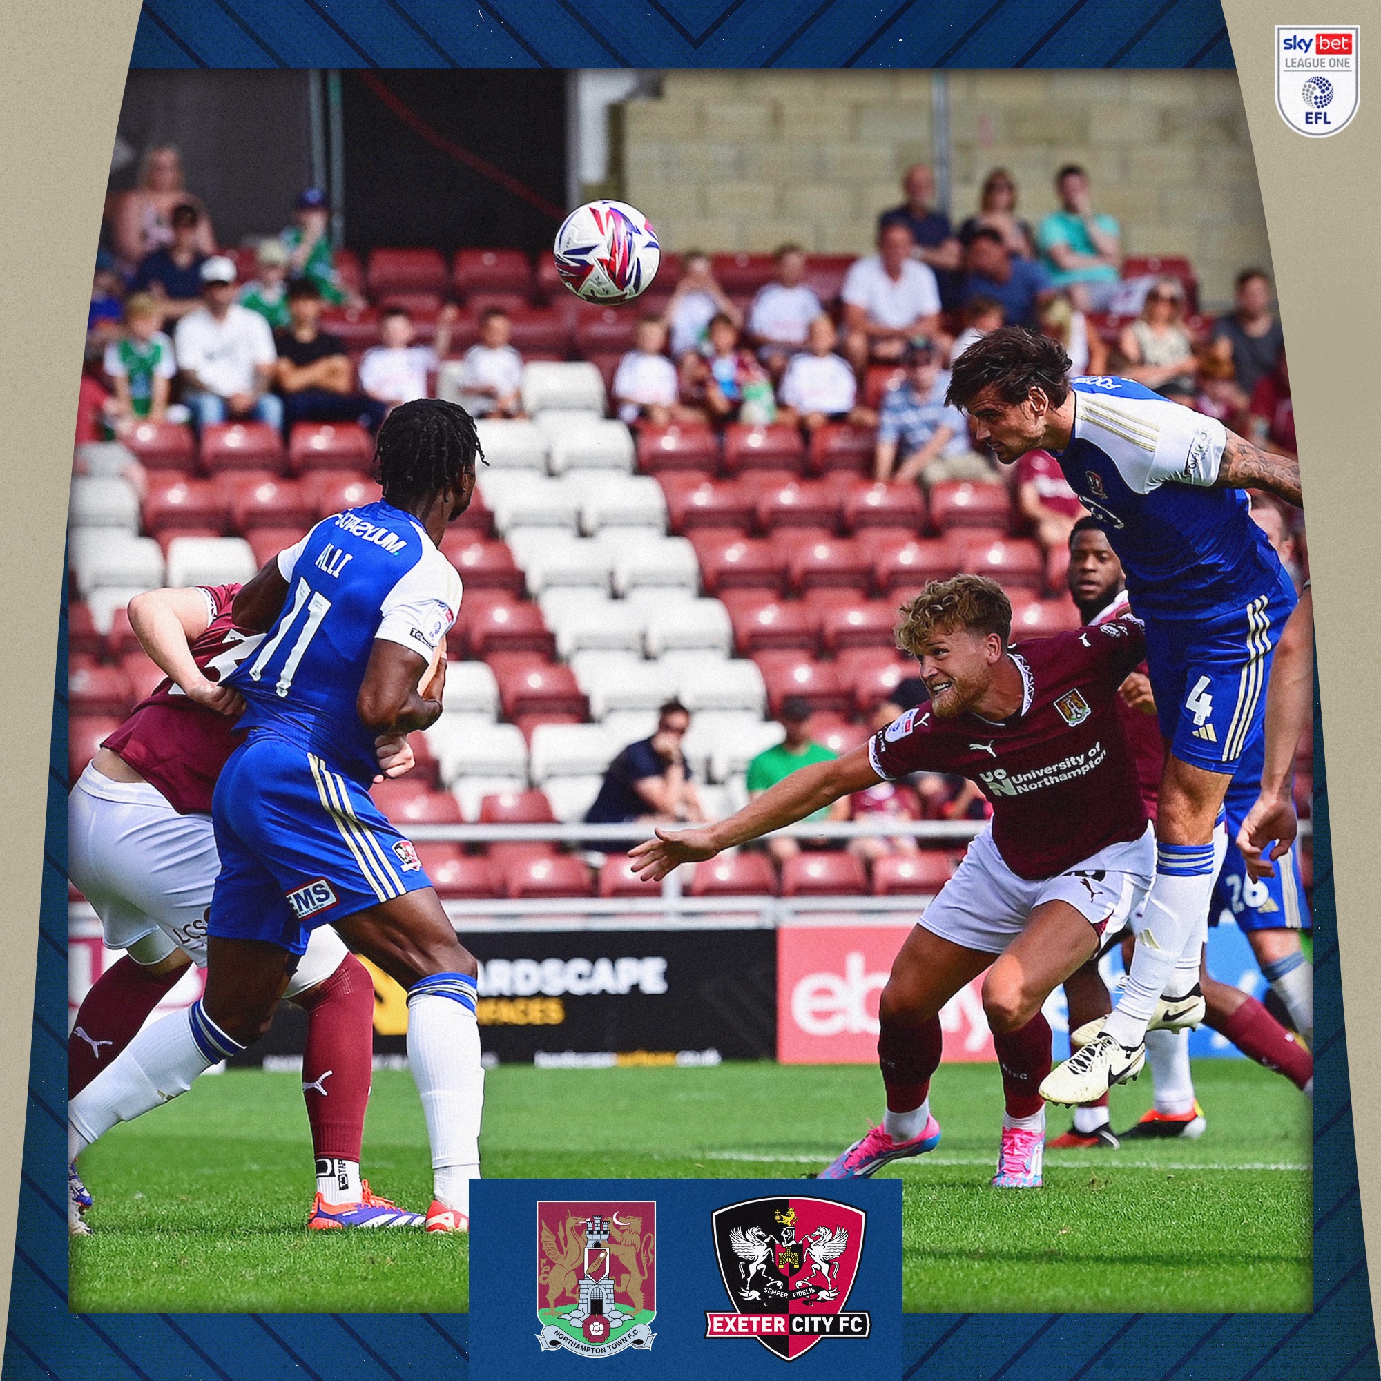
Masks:
[[[606,1358],[646,1352],[657,1316],[657,1206],[537,1200],[537,1342]]]

